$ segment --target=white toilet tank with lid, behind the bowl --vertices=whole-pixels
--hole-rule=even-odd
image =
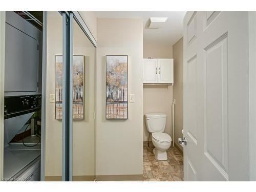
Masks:
[[[164,132],[166,123],[166,114],[147,113],[145,114],[147,131],[150,133]]]

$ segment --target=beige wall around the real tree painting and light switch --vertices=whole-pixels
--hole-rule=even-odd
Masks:
[[[96,176],[143,174],[143,21],[97,19]],[[105,55],[128,55],[129,119],[106,120]]]

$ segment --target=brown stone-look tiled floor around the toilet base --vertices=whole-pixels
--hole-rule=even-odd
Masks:
[[[167,151],[168,159],[159,161],[150,149],[143,147],[143,177],[144,181],[183,181],[183,155],[176,147]]]

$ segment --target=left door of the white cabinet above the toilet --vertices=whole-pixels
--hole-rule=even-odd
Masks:
[[[158,82],[158,59],[143,60],[143,83]]]

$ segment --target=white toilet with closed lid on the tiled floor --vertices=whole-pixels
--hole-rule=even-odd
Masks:
[[[158,160],[167,160],[166,151],[170,147],[172,138],[163,133],[166,123],[166,114],[147,113],[145,114],[147,131],[152,133],[152,142],[155,146],[153,152]]]

